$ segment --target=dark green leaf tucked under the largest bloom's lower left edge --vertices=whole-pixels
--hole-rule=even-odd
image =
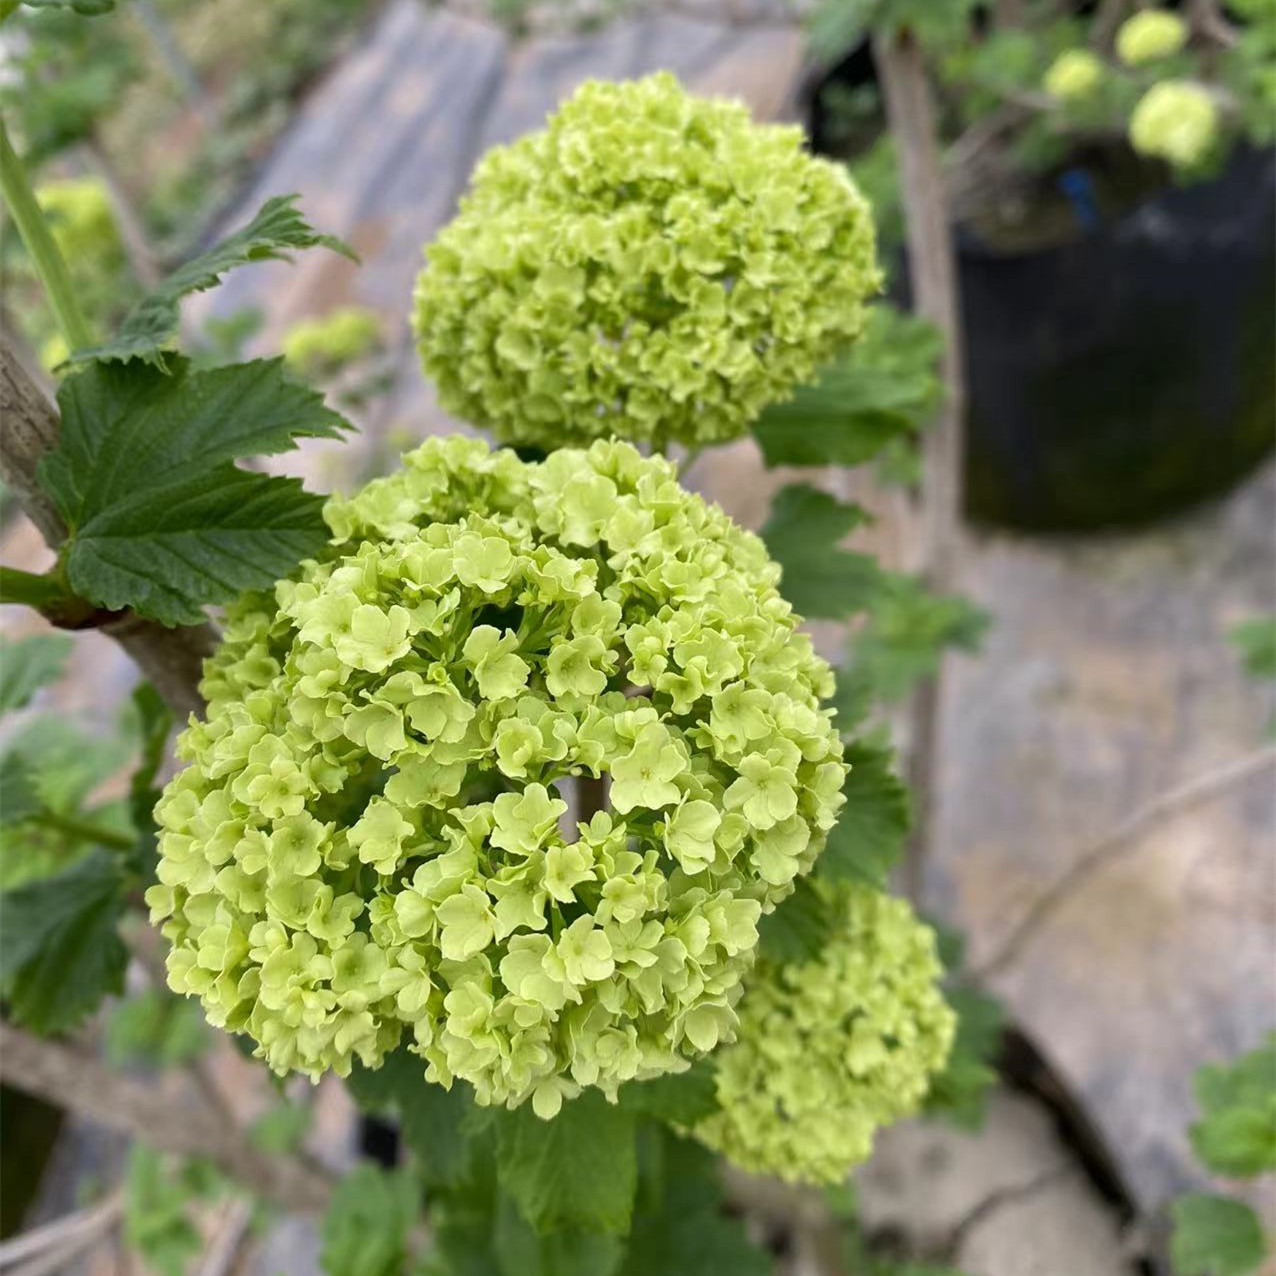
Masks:
[[[450,1090],[425,1079],[425,1060],[399,1046],[376,1069],[356,1064],[346,1085],[365,1111],[398,1116],[403,1142],[429,1184],[453,1183],[470,1169],[470,1087]]]

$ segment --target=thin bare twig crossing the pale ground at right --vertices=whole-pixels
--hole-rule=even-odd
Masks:
[[[974,968],[971,976],[976,980],[986,980],[1004,971],[1040,933],[1041,926],[1076,893],[1078,887],[1083,886],[1096,872],[1111,864],[1114,859],[1138,846],[1139,838],[1150,829],[1194,806],[1212,801],[1235,785],[1244,783],[1273,766],[1276,766],[1276,745],[1268,745],[1213,771],[1207,771],[1203,776],[1197,776],[1176,789],[1160,794],[1136,809],[1114,829],[1085,850],[1072,868],[1028,905],[1023,916],[1011,926],[1005,939],[990,957]]]

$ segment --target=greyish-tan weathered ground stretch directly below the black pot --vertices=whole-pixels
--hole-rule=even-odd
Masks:
[[[1276,697],[1225,635],[1276,610],[1273,509],[1268,468],[1175,526],[971,556],[994,623],[949,680],[929,902],[976,967],[1132,812],[1263,745]],[[1276,1026],[1276,767],[1110,851],[993,983],[1142,1205],[1198,1183],[1192,1073]]]

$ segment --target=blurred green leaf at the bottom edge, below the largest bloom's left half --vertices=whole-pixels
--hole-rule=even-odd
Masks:
[[[362,1164],[338,1184],[323,1219],[319,1265],[327,1276],[401,1276],[407,1238],[421,1212],[403,1170]]]

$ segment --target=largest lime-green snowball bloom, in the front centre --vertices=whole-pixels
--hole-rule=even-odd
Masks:
[[[730,1039],[846,771],[762,542],[602,441],[433,439],[327,517],[232,612],[156,808],[172,988],[277,1072],[407,1030],[542,1115]]]

